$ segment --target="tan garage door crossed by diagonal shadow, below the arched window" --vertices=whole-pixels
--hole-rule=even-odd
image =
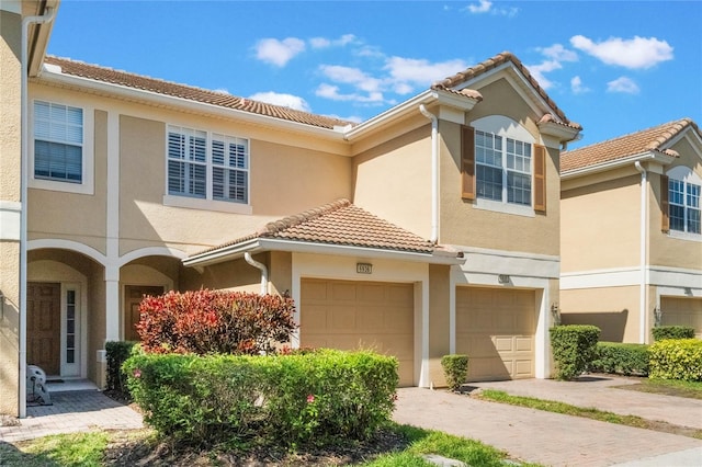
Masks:
[[[468,380],[534,377],[534,291],[457,287],[456,353]]]

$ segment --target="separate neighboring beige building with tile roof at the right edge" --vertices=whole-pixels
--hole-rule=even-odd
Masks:
[[[702,338],[702,134],[681,118],[564,152],[561,309],[600,340]]]

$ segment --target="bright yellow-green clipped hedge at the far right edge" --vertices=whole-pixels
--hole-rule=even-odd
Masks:
[[[702,381],[702,341],[666,339],[650,345],[652,379]]]

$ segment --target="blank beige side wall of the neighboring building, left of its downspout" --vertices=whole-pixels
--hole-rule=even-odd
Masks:
[[[562,272],[639,265],[639,180],[635,172],[574,189],[564,183]]]

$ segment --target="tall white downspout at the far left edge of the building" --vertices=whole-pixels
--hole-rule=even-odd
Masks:
[[[20,101],[21,101],[21,149],[20,149],[20,397],[19,413],[20,418],[26,418],[26,240],[27,240],[27,183],[29,183],[29,94],[27,94],[27,73],[29,73],[29,36],[30,25],[44,24],[54,20],[56,10],[46,9],[46,14],[42,16],[26,16],[22,19],[22,55],[20,57],[21,80],[20,80]]]

